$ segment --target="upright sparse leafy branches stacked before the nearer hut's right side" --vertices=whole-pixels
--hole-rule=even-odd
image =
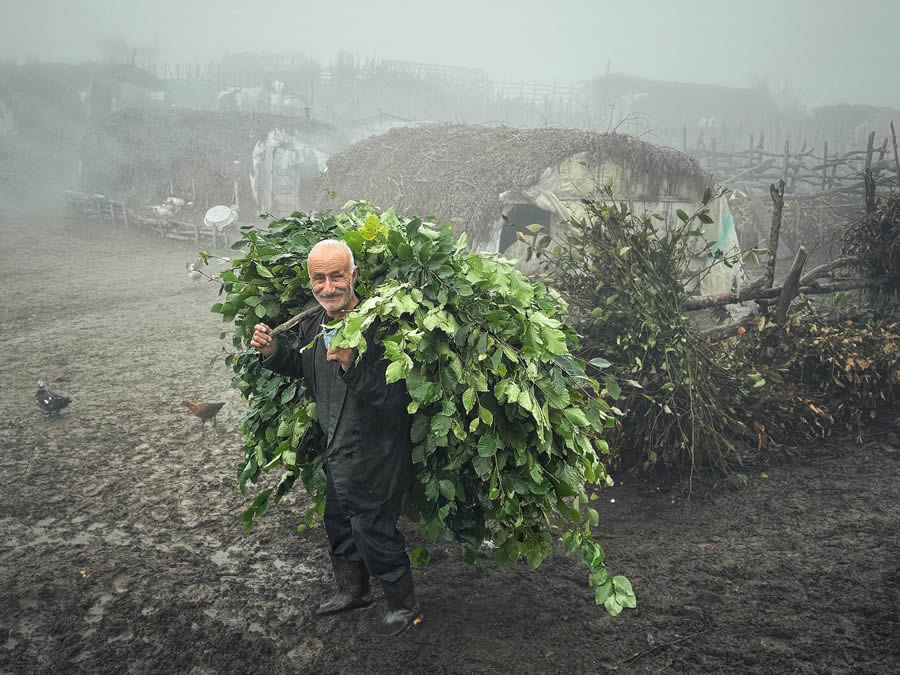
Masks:
[[[712,198],[707,190],[703,208],[690,216],[679,210],[672,225],[616,203],[607,188],[600,199],[585,200],[586,216],[565,232],[541,236],[540,226],[531,226],[538,235],[531,251],[584,337],[581,356],[608,358],[616,379],[627,383],[629,423],[613,441],[624,468],[691,473],[707,465],[728,472],[740,461],[737,376],[682,309],[686,289],[710,269],[697,269],[699,254],[733,264],[703,238]]]

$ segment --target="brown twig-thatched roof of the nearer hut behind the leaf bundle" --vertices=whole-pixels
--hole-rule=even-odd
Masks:
[[[548,167],[581,153],[613,162],[628,184],[660,195],[702,194],[712,176],[696,160],[621,134],[441,124],[394,129],[351,145],[328,161],[318,193],[366,199],[410,216],[435,216],[477,237],[495,222],[499,195],[534,185]],[[632,195],[639,198],[642,195]],[[326,202],[323,207],[333,207]]]

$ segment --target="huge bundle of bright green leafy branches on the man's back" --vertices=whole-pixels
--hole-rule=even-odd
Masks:
[[[234,245],[243,257],[222,274],[227,295],[212,308],[234,322],[238,350],[256,322],[280,324],[312,299],[306,257],[326,237],[347,242],[360,268],[361,302],[335,324],[333,344],[362,354],[374,340],[390,360],[387,381],[406,382],[417,474],[407,509],[426,540],[455,539],[470,560],[490,540],[498,563],[525,557],[534,568],[561,530],[565,551],[590,568],[597,603],[612,614],[633,607],[628,580],[606,571],[591,529],[599,517],[587,505],[586,485],[611,483],[600,455],[613,411],[572,355],[578,341],[558,318],[560,296],[509,262],[467,252],[449,226],[352,202],[342,214],[295,213],[267,230],[244,229]],[[255,353],[228,363],[249,403],[239,425],[241,488],[281,472],[242,520],[249,529],[299,478],[314,498],[310,524],[325,488],[314,402],[302,381],[265,371]],[[425,549],[413,553],[414,562],[426,558]]]

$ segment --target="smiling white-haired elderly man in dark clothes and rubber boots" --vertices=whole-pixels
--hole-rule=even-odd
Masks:
[[[358,271],[344,242],[326,239],[313,246],[307,271],[321,311],[299,324],[293,347],[273,337],[264,324],[255,326],[250,345],[265,368],[304,379],[326,437],[324,520],[337,594],[316,614],[370,606],[371,575],[381,581],[387,601],[375,632],[399,635],[421,620],[406,542],[397,529],[412,477],[406,388],[403,382],[385,383],[388,364],[374,341],[359,363],[355,349],[330,346],[334,331],[301,351],[323,324],[344,317],[359,303]]]

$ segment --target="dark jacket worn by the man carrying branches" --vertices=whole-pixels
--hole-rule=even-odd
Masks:
[[[305,347],[329,321],[325,310],[302,321],[288,347],[282,336],[263,367],[280,375],[303,378],[315,402],[325,433],[325,463],[341,506],[348,515],[377,509],[399,500],[412,477],[412,416],[404,381],[385,383],[384,348],[368,339],[359,363],[343,372],[328,361],[321,337]]]

